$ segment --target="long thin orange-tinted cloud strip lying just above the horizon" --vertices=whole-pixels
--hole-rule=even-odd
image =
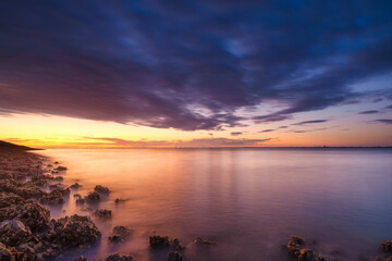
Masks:
[[[265,139],[231,139],[231,138],[197,138],[191,140],[127,140],[109,137],[84,137],[84,139],[99,140],[98,142],[83,141],[72,142],[71,146],[109,146],[109,147],[246,147],[259,146],[271,138]]]

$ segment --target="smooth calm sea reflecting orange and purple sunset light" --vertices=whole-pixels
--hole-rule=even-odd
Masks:
[[[76,207],[70,197],[51,207],[53,217],[96,208],[113,219],[94,219],[101,240],[62,260],[85,254],[132,253],[136,260],[166,260],[148,250],[149,235],[196,236],[218,244],[191,247],[194,260],[289,260],[290,235],[339,250],[343,260],[373,258],[392,238],[392,150],[389,149],[52,149],[39,152],[66,165],[64,182],[97,184],[112,192],[99,204]],[[119,204],[115,198],[126,199]],[[65,211],[65,212],[64,212]],[[108,244],[115,225],[130,226],[127,243]]]

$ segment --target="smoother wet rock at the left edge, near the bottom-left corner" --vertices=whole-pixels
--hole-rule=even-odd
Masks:
[[[0,241],[16,247],[29,241],[38,241],[30,229],[19,220],[7,220],[0,223]]]

